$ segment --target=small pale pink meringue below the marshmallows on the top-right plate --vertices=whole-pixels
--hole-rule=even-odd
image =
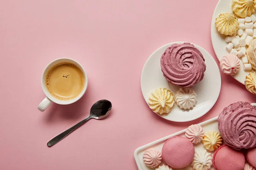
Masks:
[[[239,71],[240,61],[239,58],[233,54],[227,54],[221,58],[220,61],[221,71],[224,74],[233,75]]]

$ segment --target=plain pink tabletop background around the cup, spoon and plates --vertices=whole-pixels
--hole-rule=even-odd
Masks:
[[[221,74],[221,94],[192,122],[160,118],[140,90],[146,59],[160,46],[193,42],[217,61],[210,38],[218,0],[2,0],[0,3],[0,169],[136,170],[137,147],[218,116],[232,102],[255,101],[244,85]],[[41,113],[41,74],[53,59],[76,59],[89,86],[72,105]],[[218,61],[217,61],[218,63]],[[209,89],[210,90],[210,89]],[[99,99],[110,116],[90,120],[48,148],[52,137],[85,118]]]

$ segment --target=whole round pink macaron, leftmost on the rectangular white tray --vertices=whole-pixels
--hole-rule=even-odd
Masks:
[[[183,168],[194,158],[194,145],[186,138],[174,136],[168,139],[162,148],[162,158],[170,167]]]

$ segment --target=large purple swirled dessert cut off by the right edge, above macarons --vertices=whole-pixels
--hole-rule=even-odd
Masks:
[[[248,102],[229,105],[218,116],[218,129],[233,149],[256,147],[256,107]]]

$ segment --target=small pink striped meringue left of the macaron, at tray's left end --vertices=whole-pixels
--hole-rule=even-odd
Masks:
[[[155,148],[149,148],[143,154],[143,161],[148,167],[157,167],[162,160],[161,153]]]

